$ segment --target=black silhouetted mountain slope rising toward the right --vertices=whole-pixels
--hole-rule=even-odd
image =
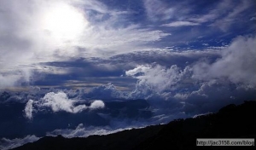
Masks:
[[[124,130],[107,136],[67,139],[45,136],[16,147],[30,149],[254,149],[254,147],[196,147],[196,138],[254,138],[256,101],[230,104],[218,113],[177,119],[169,124]]]

